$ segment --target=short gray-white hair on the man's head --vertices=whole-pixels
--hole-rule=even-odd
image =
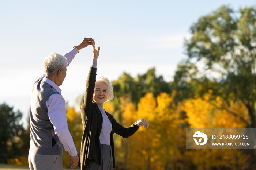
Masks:
[[[59,69],[64,70],[67,58],[59,53],[49,54],[44,60],[45,77],[52,77]]]

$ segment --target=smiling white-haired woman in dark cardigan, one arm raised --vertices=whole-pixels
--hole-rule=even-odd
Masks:
[[[81,144],[81,169],[111,170],[116,167],[113,134],[123,138],[133,135],[140,126],[148,128],[141,119],[124,128],[114,117],[103,109],[104,102],[112,100],[113,87],[106,77],[96,81],[96,65],[99,47],[93,43],[93,61],[86,82],[84,100],[81,106],[83,137]]]

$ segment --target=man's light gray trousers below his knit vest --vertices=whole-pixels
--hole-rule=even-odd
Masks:
[[[29,151],[30,170],[62,170],[62,155],[39,155]]]

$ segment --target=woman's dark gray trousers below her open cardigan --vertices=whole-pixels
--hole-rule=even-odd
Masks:
[[[88,170],[112,170],[113,157],[111,151],[111,146],[101,144],[101,165],[99,165],[96,161],[93,161],[89,164]]]

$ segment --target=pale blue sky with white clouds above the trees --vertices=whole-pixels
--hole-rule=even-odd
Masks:
[[[185,59],[183,42],[189,27],[211,11],[255,0],[0,0],[0,103],[29,112],[31,88],[43,74],[50,53],[65,54],[84,37],[101,47],[97,76],[111,81],[125,71],[135,77],[155,67],[166,81]],[[78,53],[67,68],[62,95],[70,105],[84,92],[92,48]]]

